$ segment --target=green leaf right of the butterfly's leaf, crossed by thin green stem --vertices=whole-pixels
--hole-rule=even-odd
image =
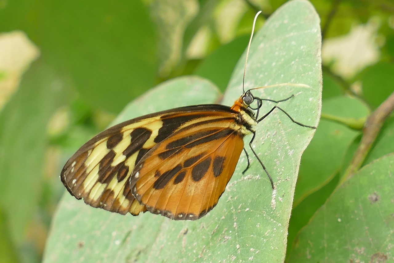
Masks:
[[[305,197],[331,181],[340,170],[349,145],[360,134],[359,131],[323,116],[358,119],[366,118],[368,113],[364,103],[348,96],[331,98],[323,102],[322,120],[301,158],[302,165],[294,196],[295,207]]]

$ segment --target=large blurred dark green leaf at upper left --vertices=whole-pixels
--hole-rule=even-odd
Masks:
[[[141,0],[7,2],[0,30],[23,30],[85,103],[118,113],[154,84],[156,35]]]

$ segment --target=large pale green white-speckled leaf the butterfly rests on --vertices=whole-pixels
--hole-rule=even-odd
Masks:
[[[280,103],[281,107],[297,121],[316,125],[322,83],[320,45],[319,19],[313,7],[304,0],[288,2],[255,35],[245,87],[288,82],[309,85],[309,88],[283,85],[256,90],[254,94],[276,100],[294,94],[294,98]],[[245,54],[234,70],[223,104],[231,105],[240,96],[244,61]],[[130,104],[121,119],[162,109],[155,107],[157,102],[163,107],[168,103],[169,108],[182,103],[212,102],[217,97],[214,90],[214,96],[201,101],[196,96],[212,94],[212,87],[211,91],[188,91],[190,85],[185,84],[185,79],[181,79],[184,82],[181,86],[179,81],[155,89],[144,97],[144,104],[142,101]],[[186,79],[187,82],[194,83]],[[260,116],[273,105],[264,103]],[[150,213],[121,216],[93,209],[67,193],[54,217],[44,260],[283,261],[299,161],[314,130],[294,124],[277,110],[256,130],[253,147],[273,177],[276,195],[256,158],[242,175],[246,167],[244,155],[217,207],[197,221],[173,221]]]

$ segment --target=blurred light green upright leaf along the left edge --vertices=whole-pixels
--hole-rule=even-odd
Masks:
[[[58,75],[39,60],[0,113],[0,205],[17,245],[38,209],[47,124],[66,95]]]

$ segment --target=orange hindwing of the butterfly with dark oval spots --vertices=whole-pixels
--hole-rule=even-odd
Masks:
[[[130,187],[154,214],[196,220],[216,204],[234,173],[243,135],[234,113],[220,113],[178,130],[136,164]]]

